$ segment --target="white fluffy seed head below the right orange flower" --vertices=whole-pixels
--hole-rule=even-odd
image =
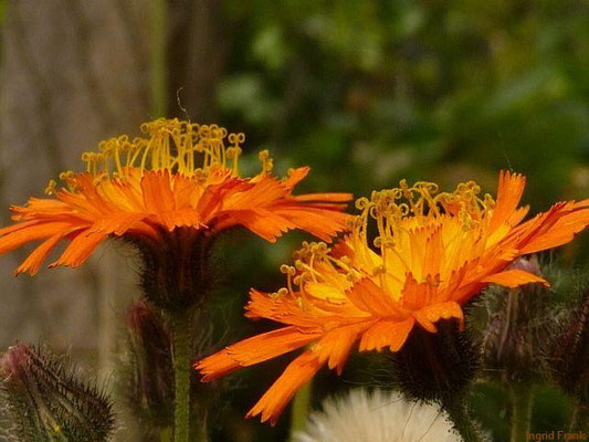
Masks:
[[[398,392],[365,389],[330,398],[293,442],[462,442],[445,412]]]

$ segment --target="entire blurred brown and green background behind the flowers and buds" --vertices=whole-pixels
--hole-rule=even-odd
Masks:
[[[494,192],[499,169],[528,177],[533,212],[589,196],[589,6],[582,0],[33,0],[1,1],[0,207],[42,196],[101,139],[178,116],[246,134],[244,171],[269,148],[276,171],[309,165],[302,191],[395,187],[402,178]],[[241,318],[249,287],[283,285],[302,234],[277,245],[230,233],[215,294],[215,348],[267,327]],[[582,267],[589,241],[561,251]],[[0,346],[46,341],[113,385],[136,262],[116,242],[81,270],[12,277],[0,260]],[[215,441],[284,441],[243,414],[284,360],[234,377]],[[314,402],[356,382],[323,372]],[[507,399],[474,398],[496,441]],[[565,425],[555,389],[533,429]],[[502,427],[503,425],[503,427]],[[126,422],[118,440],[134,436]]]

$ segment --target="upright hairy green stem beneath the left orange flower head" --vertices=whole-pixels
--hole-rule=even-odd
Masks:
[[[179,312],[171,316],[173,336],[175,414],[173,441],[188,442],[190,432],[190,349],[192,314]]]

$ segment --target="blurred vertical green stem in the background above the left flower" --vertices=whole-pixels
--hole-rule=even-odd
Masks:
[[[167,0],[151,0],[150,29],[151,29],[151,116],[162,117],[166,115],[167,102],[167,70],[166,70],[166,22]]]

